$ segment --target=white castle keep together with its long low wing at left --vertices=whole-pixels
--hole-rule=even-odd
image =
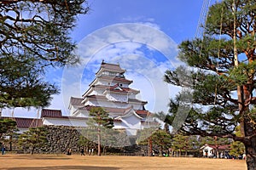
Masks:
[[[140,91],[130,88],[133,81],[125,78],[125,70],[119,64],[102,61],[95,79],[80,97],[71,97],[69,116],[63,116],[61,110],[43,109],[40,118],[15,118],[19,133],[29,127],[43,125],[88,127],[91,107],[102,107],[114,120],[114,129],[126,132],[128,136],[137,134],[138,130],[158,126],[152,113],[145,109],[147,101],[137,99]]]

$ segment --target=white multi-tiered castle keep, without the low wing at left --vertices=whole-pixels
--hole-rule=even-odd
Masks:
[[[153,125],[151,113],[145,110],[148,102],[136,98],[140,91],[130,88],[132,82],[125,78],[125,70],[120,65],[102,61],[82,98],[71,97],[71,116],[89,117],[90,108],[98,106],[113,118],[113,128],[125,129],[127,135],[135,135],[137,130]]]

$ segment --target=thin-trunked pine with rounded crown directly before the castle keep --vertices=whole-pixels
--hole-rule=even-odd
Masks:
[[[93,121],[97,127],[97,138],[98,138],[98,156],[101,156],[101,132],[102,127],[112,128],[113,127],[113,118],[108,116],[108,112],[105,111],[102,107],[92,107],[90,109],[90,116],[92,116]]]

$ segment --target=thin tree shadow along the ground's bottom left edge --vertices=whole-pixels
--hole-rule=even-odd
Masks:
[[[53,166],[53,167],[8,167],[6,170],[48,170],[48,169],[55,169],[55,170],[78,170],[78,169],[86,169],[86,170],[118,170],[118,167],[91,167],[91,166]]]

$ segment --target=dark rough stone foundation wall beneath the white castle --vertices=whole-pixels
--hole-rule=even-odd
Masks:
[[[48,142],[43,144],[40,148],[36,148],[34,153],[40,154],[67,154],[67,150],[71,149],[72,153],[79,153],[79,137],[81,129],[79,127],[65,127],[65,126],[44,126],[46,128]],[[122,137],[122,136],[121,136]],[[122,137],[124,138],[124,137]],[[125,139],[125,138],[124,138]],[[123,140],[124,140],[123,139]],[[125,139],[129,140],[129,139]],[[122,141],[122,140],[121,140]],[[129,143],[127,143],[129,144]],[[113,148],[114,149],[114,148]],[[148,146],[132,144],[123,147],[122,149],[108,148],[108,154],[120,154],[141,156],[148,155]],[[102,150],[103,151],[103,150]],[[23,150],[23,153],[30,153],[30,150]],[[95,152],[96,153],[96,152]]]

